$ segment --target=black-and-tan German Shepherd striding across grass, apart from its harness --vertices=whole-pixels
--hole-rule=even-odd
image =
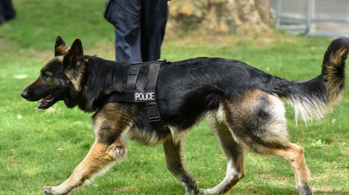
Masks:
[[[126,157],[126,140],[146,145],[163,144],[168,170],[183,185],[186,195],[227,193],[245,176],[244,154],[250,151],[278,156],[294,170],[296,188],[311,195],[304,149],[288,139],[284,103],[292,104],[296,120],[320,119],[338,104],[345,90],[345,60],[349,37],[332,41],[325,52],[322,72],[309,81],[287,81],[243,62],[222,58],[194,58],[162,64],[157,84],[159,112],[169,127],[156,130],[148,121],[145,103],[100,99],[123,93],[131,64],[83,54],[76,39],[70,49],[60,36],[55,57],[41,69],[39,78],[21,96],[40,100],[46,109],[63,100],[95,112],[96,141],[84,160],[61,185],[44,187],[45,195],[67,195],[98,173]],[[141,69],[140,75],[147,70]],[[142,89],[140,89],[142,90]],[[183,139],[191,127],[208,118],[227,158],[226,176],[211,189],[198,189],[183,167]]]

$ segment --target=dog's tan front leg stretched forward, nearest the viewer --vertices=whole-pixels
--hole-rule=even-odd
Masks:
[[[71,176],[56,187],[44,187],[45,195],[67,195],[86,184],[94,176],[106,171],[116,161],[127,155],[127,148],[120,139],[121,133],[129,128],[130,114],[117,104],[106,104],[93,116],[96,142],[87,156],[74,169]]]

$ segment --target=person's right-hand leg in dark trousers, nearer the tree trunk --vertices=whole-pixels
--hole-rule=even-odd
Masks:
[[[144,62],[160,59],[161,45],[169,16],[167,0],[143,0],[141,45]]]

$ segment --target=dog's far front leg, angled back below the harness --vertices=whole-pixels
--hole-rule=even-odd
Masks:
[[[180,140],[178,143],[174,143],[172,137],[166,139],[163,143],[164,152],[166,157],[166,166],[172,175],[183,185],[186,195],[197,195],[197,186],[193,176],[188,173],[182,162],[182,143]]]

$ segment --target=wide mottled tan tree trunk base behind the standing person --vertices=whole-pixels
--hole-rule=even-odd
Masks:
[[[169,27],[208,33],[270,32],[269,0],[172,0]]]

